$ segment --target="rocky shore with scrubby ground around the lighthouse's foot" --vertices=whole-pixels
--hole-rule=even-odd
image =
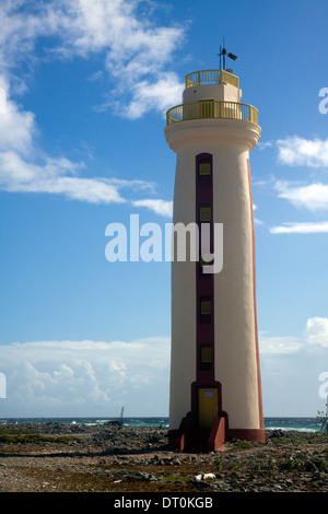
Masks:
[[[162,428],[4,423],[0,492],[328,492],[328,434],[179,454]]]

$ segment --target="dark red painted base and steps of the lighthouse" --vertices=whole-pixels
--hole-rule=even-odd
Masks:
[[[266,442],[265,429],[229,429],[227,418],[214,418],[211,428],[200,428],[192,412],[181,420],[178,430],[168,431],[169,442],[177,452],[216,452],[226,441]]]

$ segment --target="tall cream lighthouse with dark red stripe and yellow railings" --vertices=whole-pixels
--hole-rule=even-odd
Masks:
[[[265,441],[249,166],[260,127],[241,98],[232,70],[201,70],[187,74],[183,103],[166,113],[173,226],[199,229],[189,258],[172,261],[168,433],[179,451]]]

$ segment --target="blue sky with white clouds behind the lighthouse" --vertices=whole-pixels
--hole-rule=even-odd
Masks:
[[[223,38],[261,127],[263,413],[325,409],[327,15],[326,0],[0,0],[0,418],[168,416],[171,265],[109,261],[107,227],[172,221],[165,112]]]

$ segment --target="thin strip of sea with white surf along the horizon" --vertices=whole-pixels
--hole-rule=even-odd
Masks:
[[[168,418],[0,418],[1,423],[65,423],[65,424],[104,424],[108,421],[122,422],[127,427],[168,427]],[[316,418],[265,418],[266,430],[296,430],[300,432],[319,432]]]

